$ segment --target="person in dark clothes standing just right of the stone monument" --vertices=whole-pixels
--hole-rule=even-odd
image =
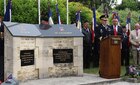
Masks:
[[[91,37],[91,30],[89,29],[89,23],[87,21],[83,24],[82,33],[84,35],[83,37],[83,67],[90,68],[92,37]]]

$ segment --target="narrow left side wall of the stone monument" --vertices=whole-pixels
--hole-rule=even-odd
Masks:
[[[9,31],[6,29],[4,30],[4,76],[5,78],[10,74],[13,73],[13,38]]]

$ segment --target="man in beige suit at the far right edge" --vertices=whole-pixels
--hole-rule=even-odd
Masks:
[[[140,64],[140,30],[139,24],[135,24],[135,29],[130,32],[130,43],[132,45],[132,56],[135,65]]]

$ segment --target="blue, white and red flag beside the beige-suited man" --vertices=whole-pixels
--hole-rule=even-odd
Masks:
[[[127,36],[129,38],[130,31],[131,31],[131,13],[129,12],[126,19],[126,29],[127,29]],[[130,46],[130,41],[128,41],[128,45]]]

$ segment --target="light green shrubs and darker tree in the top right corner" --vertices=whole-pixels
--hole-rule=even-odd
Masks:
[[[115,11],[119,13],[122,25],[126,25],[127,15],[129,12],[131,13],[131,29],[134,29],[134,24],[139,21],[139,10],[140,2],[137,2],[137,0],[122,0],[122,4],[115,8]],[[112,14],[110,14],[110,16],[112,17]]]

